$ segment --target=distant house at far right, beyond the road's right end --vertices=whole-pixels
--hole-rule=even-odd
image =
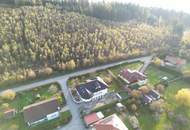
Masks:
[[[181,67],[185,65],[187,62],[185,59],[181,59],[179,57],[170,56],[170,55],[167,55],[164,61],[165,65],[172,67]]]

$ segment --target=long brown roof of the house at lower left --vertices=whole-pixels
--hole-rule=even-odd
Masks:
[[[56,97],[44,100],[23,108],[25,122],[33,123],[45,118],[48,114],[58,111],[61,107]]]

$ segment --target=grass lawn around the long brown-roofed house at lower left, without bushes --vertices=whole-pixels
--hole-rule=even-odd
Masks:
[[[52,85],[57,86],[57,92],[52,93],[49,91],[49,87]],[[62,106],[64,106],[65,105],[64,95],[63,94],[60,95],[59,92],[60,92],[59,84],[53,83],[53,84],[40,86],[32,90],[19,92],[16,94],[16,98],[13,101],[2,100],[1,101],[2,104],[8,103],[9,108],[15,108],[17,112],[19,113],[16,115],[16,117],[10,120],[0,119],[0,124],[1,124],[0,130],[28,130],[29,128],[26,126],[23,119],[23,115],[22,115],[23,107],[33,104],[35,102],[39,102],[41,100],[49,99],[54,96],[61,97],[59,98],[61,101],[60,103],[62,104]],[[59,125],[68,123],[70,118],[71,118],[70,112],[66,111],[66,112],[61,113],[60,118],[45,122],[43,124],[40,124],[30,129],[31,130],[42,130],[42,129],[53,130],[55,127]]]

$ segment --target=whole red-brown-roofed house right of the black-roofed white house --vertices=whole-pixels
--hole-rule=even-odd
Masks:
[[[144,85],[147,83],[147,76],[137,70],[124,69],[119,77],[129,85]]]

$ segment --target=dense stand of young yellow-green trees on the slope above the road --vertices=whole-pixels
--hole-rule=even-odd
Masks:
[[[183,27],[179,23],[171,27],[161,23],[161,18],[149,23],[143,17],[138,21],[134,16],[128,22],[121,22],[91,17],[88,9],[85,12],[86,6],[80,10],[66,7],[72,6],[58,9],[55,5],[37,4],[0,8],[1,84],[153,52],[189,48],[186,41],[181,43]],[[110,18],[117,17],[116,14]]]

